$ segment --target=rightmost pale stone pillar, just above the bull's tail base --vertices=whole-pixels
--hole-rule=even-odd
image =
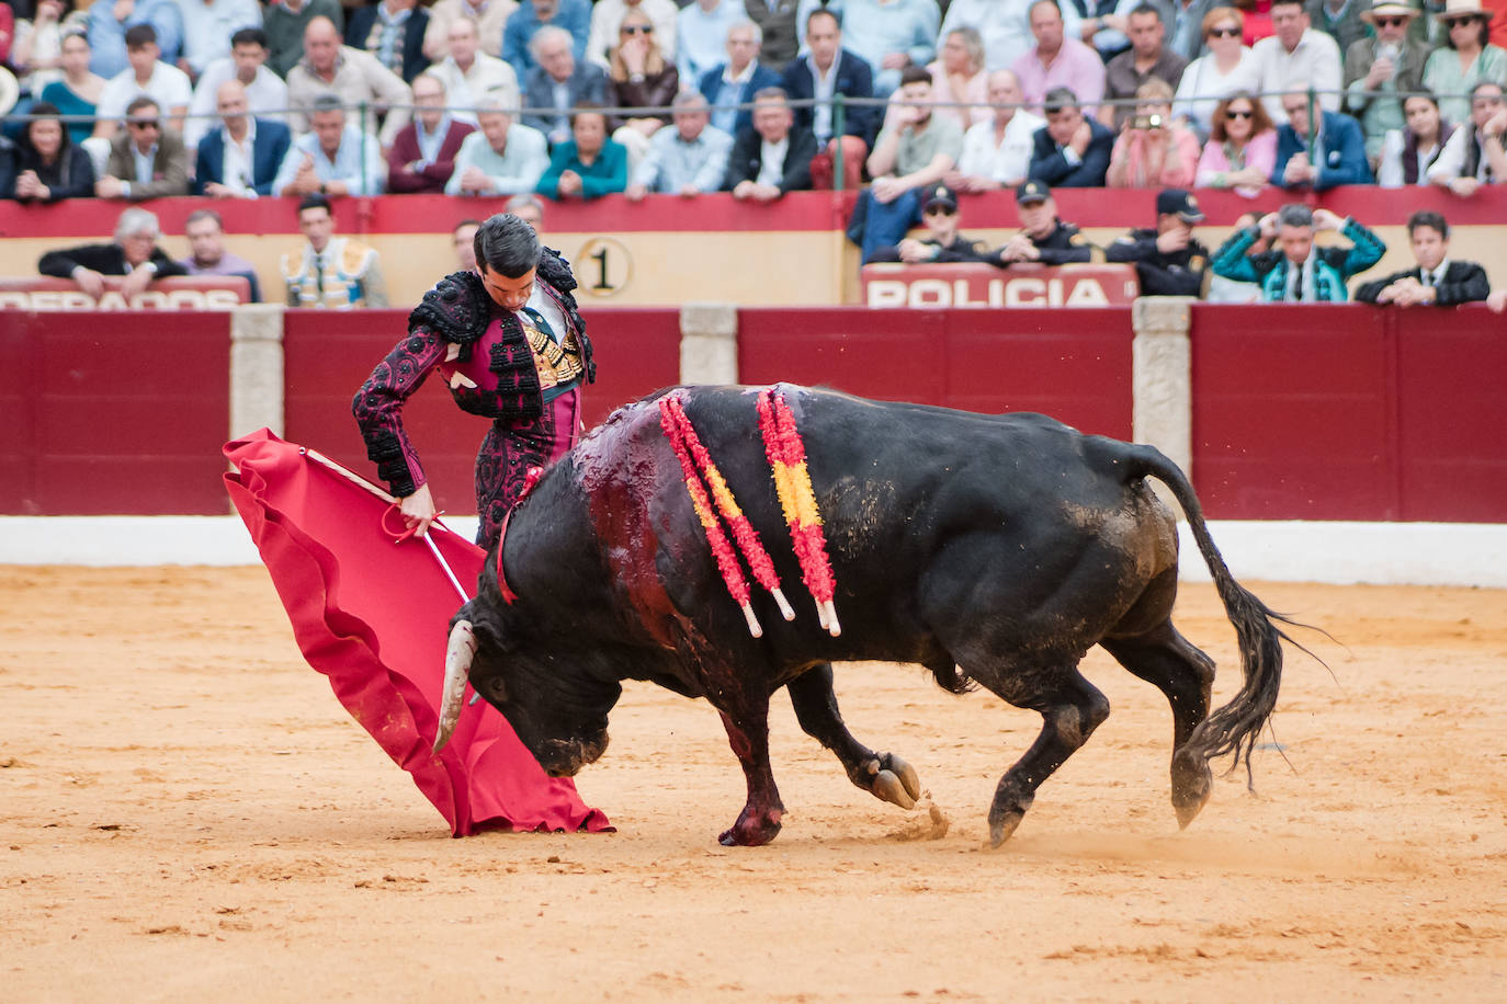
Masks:
[[[1130,309],[1135,393],[1132,434],[1154,446],[1191,479],[1194,462],[1194,373],[1189,331],[1192,297],[1141,297]],[[1153,482],[1168,504],[1171,494]]]

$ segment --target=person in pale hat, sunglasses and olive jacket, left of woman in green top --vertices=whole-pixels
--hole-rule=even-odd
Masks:
[[[1373,164],[1386,132],[1403,128],[1403,102],[1397,95],[1423,90],[1429,48],[1408,38],[1408,26],[1417,15],[1405,0],[1374,0],[1361,18],[1376,29],[1376,38],[1361,38],[1344,51],[1344,110],[1361,122]],[[1373,96],[1374,92],[1380,93]]]

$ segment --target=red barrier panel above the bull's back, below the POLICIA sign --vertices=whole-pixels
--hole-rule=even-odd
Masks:
[[[1040,411],[1130,437],[1130,312],[738,312],[746,384],[823,384],[865,397],[967,411]]]

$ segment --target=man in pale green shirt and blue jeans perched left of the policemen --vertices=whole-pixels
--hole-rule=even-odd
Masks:
[[[961,154],[963,131],[957,120],[931,111],[931,74],[907,66],[868,155],[874,184],[859,193],[848,220],[847,238],[859,245],[865,263],[921,221],[922,194],[957,167]]]

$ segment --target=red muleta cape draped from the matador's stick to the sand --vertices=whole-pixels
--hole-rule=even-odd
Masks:
[[[544,774],[491,704],[461,713],[449,745],[429,750],[445,677],[446,625],[461,599],[419,539],[393,543],[389,503],[267,429],[225,446],[226,491],[252,531],[304,659],[398,766],[451,832],[612,829],[570,778]],[[463,587],[485,552],[429,530]],[[467,691],[470,688],[467,686]]]

